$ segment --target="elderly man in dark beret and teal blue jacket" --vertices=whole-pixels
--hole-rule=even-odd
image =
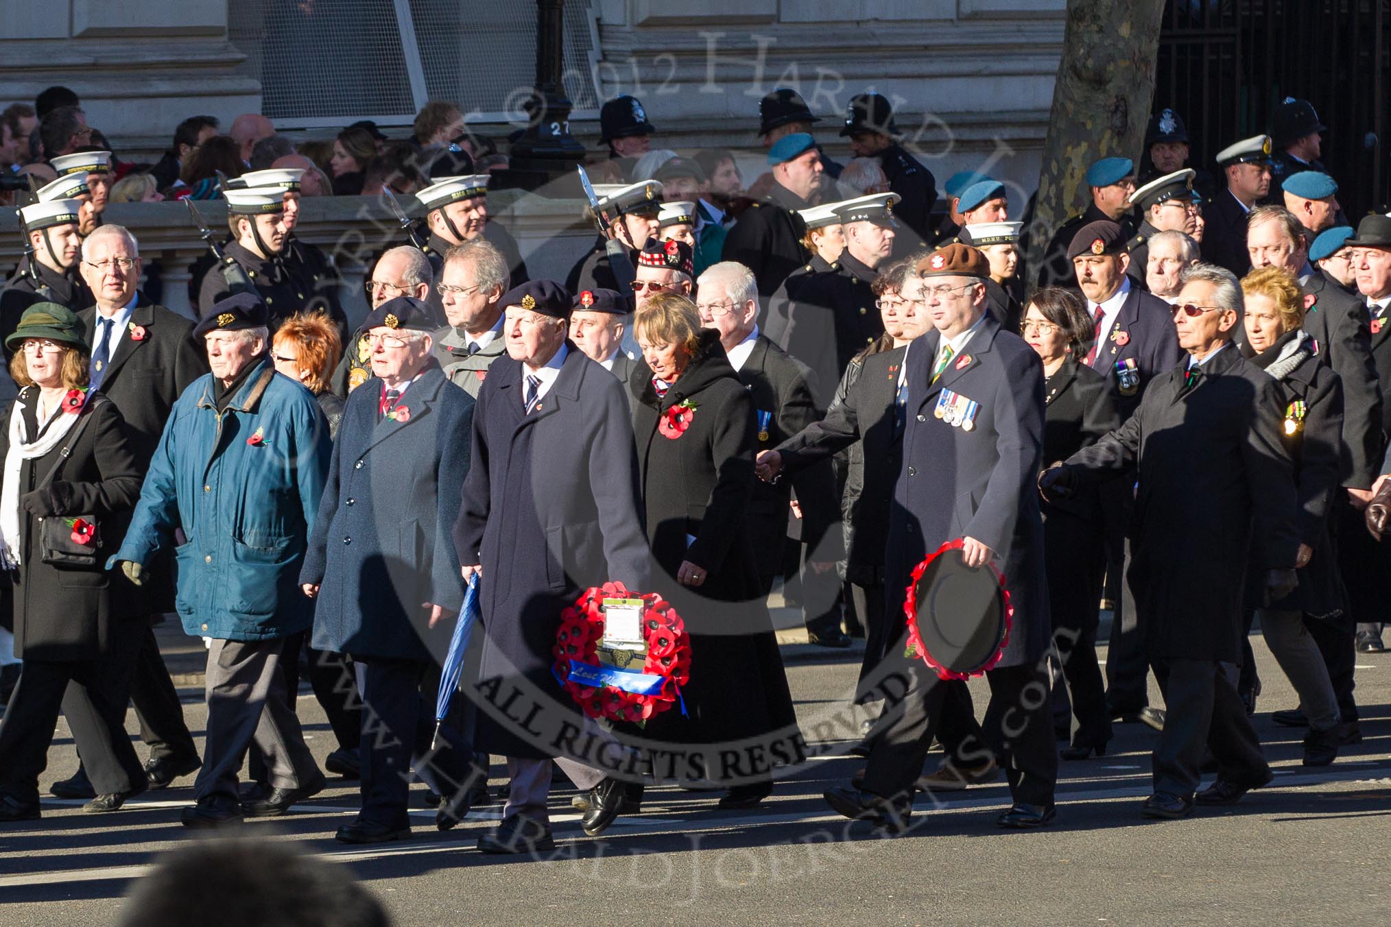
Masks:
[[[243,814],[284,814],[324,785],[288,705],[280,657],[285,638],[313,623],[299,568],[331,442],[313,395],[275,374],[266,306],[255,293],[216,303],[193,336],[211,372],[174,403],[125,541],[107,566],[120,564],[143,585],[157,555],[174,548],[174,530],[188,536],[174,549],[175,606],[184,631],[211,645],[198,803],[182,821],[216,827]],[[236,774],[253,742],[271,789],[243,806]]]

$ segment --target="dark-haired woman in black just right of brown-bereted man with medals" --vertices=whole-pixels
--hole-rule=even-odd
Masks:
[[[1082,300],[1066,289],[1040,289],[1024,313],[1024,341],[1043,361],[1045,468],[1120,428],[1120,413],[1106,378],[1078,361],[1091,334],[1092,321]],[[1063,677],[1077,716],[1077,732],[1060,756],[1085,760],[1093,750],[1097,756],[1104,755],[1111,739],[1106,685],[1096,662],[1096,625],[1106,571],[1100,503],[1096,491],[1088,489],[1068,499],[1043,499],[1042,513],[1053,642],[1063,659]]]

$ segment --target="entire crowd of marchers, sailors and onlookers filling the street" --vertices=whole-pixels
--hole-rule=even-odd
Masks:
[[[328,181],[266,145],[268,121],[181,125],[172,164],[140,168],[88,145],[57,90],[35,125],[0,118],[39,178],[0,299],[18,389],[0,821],[40,817],[60,713],[82,769],[51,791],[86,812],[195,771],[189,827],[289,812],[325,784],[302,667],[327,771],[360,780],[344,842],[409,835],[416,778],[455,827],[498,796],[490,756],[508,785],[484,852],[554,845],[556,773],[590,835],[641,813],[648,781],[754,807],[808,749],[766,607],[779,578],[812,643],[865,638],[865,764],[825,798],[889,832],[915,789],[1002,770],[999,824],[1046,826],[1057,762],[1104,755],[1117,721],[1157,731],[1145,816],[1239,801],[1273,776],[1251,721],[1257,623],[1299,696],[1274,720],[1306,728],[1303,763],[1360,741],[1353,656],[1381,649],[1385,609],[1391,218],[1344,218],[1308,101],[1223,149],[1219,178],[1161,110],[1139,164],[1091,165],[1091,204],[1031,267],[1006,185],[968,171],[939,199],[879,95],[850,101],[844,165],[797,93],[765,96],[768,172],[747,190],[729,151],[654,149],[622,96],[587,165],[598,239],[563,282],[490,220],[501,156],[430,104],[413,140],[359,124],[334,142],[334,193],[424,208],[376,257],[353,328],[332,256],[294,233]],[[181,167],[204,161],[223,167]],[[139,242],[103,221],[118,175],[225,200],[196,320],[140,289],[157,275]],[[983,721],[904,623],[943,545],[997,571],[1013,609]],[[562,688],[562,613],[605,582],[684,618],[679,710],[598,724]],[[437,716],[470,591],[469,698]],[[209,645],[202,756],[152,630],[171,612]]]

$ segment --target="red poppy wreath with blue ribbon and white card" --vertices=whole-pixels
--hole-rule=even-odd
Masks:
[[[643,600],[641,627],[647,660],[641,673],[600,663],[604,599]],[[622,582],[590,586],[574,605],[566,606],[561,612],[561,627],[555,632],[551,653],[555,657],[555,678],[580,710],[594,719],[643,723],[676,705],[680,700],[680,687],[690,680],[691,639],[686,623],[662,596],[630,592]],[[587,681],[608,678],[623,685],[586,685],[572,677],[584,677]]]

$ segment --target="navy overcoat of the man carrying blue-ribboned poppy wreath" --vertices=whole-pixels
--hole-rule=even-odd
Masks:
[[[551,674],[561,610],[608,581],[651,591],[637,457],[623,385],[573,343],[556,381],[523,411],[522,363],[488,368],[473,411],[469,475],[453,525],[462,566],[481,564],[480,677],[524,677],[577,710]],[[480,712],[480,749],[547,756]]]

